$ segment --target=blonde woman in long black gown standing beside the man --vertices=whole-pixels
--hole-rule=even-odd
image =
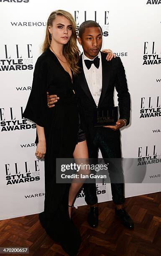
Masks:
[[[76,255],[81,243],[79,230],[70,219],[69,206],[82,184],[56,183],[56,158],[88,158],[74,92],[78,60],[75,21],[64,10],[54,11],[48,19],[43,54],[36,61],[23,116],[36,123],[36,156],[45,155],[45,202],[39,219],[46,233],[59,241],[69,255]],[[55,108],[48,108],[47,91],[60,96]]]

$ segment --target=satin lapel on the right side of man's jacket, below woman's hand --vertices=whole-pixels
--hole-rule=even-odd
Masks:
[[[103,54],[101,52],[101,59],[102,59],[102,90],[101,90],[101,95],[100,95],[100,100],[98,102],[98,107],[102,104],[102,101],[105,97],[105,93],[107,91],[108,87],[108,82],[110,79],[110,62],[106,60],[106,54]]]

